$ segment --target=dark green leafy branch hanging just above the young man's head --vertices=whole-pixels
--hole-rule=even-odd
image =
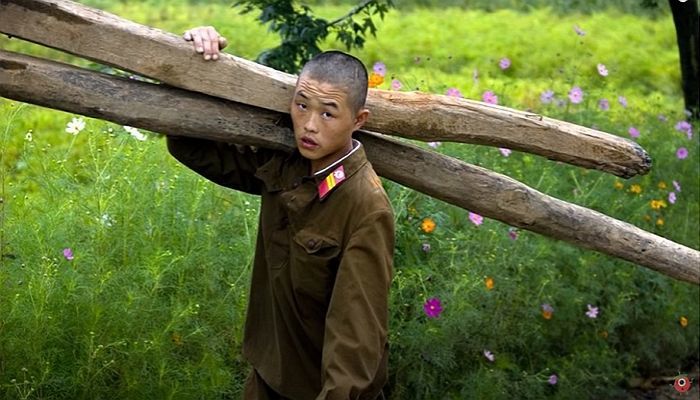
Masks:
[[[277,47],[263,51],[257,61],[278,70],[298,73],[302,65],[321,52],[319,44],[330,33],[335,33],[347,50],[362,48],[367,33],[376,35],[373,16],[383,19],[392,0],[364,0],[333,21],[314,16],[309,6],[297,6],[293,0],[241,0],[234,6],[242,7],[243,13],[259,9],[258,20],[281,38]],[[361,16],[360,21],[355,20],[357,16]]]

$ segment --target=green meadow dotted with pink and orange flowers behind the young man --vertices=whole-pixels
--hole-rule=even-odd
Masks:
[[[226,2],[85,3],[170,32],[214,25],[249,59],[277,40]],[[417,5],[353,52],[379,88],[595,127],[654,165],[623,180],[507,149],[421,146],[700,248],[698,125],[668,12]],[[0,47],[100,68],[17,39]],[[397,226],[392,399],[624,399],[634,378],[697,367],[696,285],[384,185]],[[0,398],[240,398],[256,197],[179,165],[161,134],[0,98],[0,199]]]

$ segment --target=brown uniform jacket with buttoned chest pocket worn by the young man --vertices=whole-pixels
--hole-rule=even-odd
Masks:
[[[243,354],[280,395],[374,399],[387,380],[394,220],[361,144],[315,176],[298,152],[168,138],[183,164],[261,196]],[[318,185],[342,165],[345,180]]]

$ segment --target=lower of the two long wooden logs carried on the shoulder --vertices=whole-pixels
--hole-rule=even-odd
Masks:
[[[0,95],[167,134],[294,148],[286,114],[0,51]],[[201,118],[207,115],[208,118]],[[700,252],[484,168],[358,132],[377,172],[510,225],[700,284]]]

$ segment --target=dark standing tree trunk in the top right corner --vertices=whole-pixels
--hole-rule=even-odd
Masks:
[[[668,0],[676,27],[685,108],[700,118],[700,12],[697,0]]]

